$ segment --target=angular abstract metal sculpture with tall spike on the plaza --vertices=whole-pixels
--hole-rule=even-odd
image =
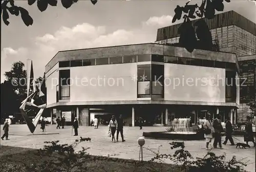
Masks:
[[[29,92],[31,90],[33,91],[33,93],[29,95]],[[44,92],[46,92],[45,75],[41,82],[35,83],[32,60],[28,60],[27,98],[22,102],[19,110],[29,127],[31,134],[34,133],[36,125],[40,117],[42,116],[42,113],[46,109],[46,93]],[[34,107],[40,110],[35,116],[34,121],[32,122],[28,116],[28,112]]]

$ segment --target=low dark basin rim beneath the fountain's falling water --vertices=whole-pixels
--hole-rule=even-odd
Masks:
[[[154,139],[169,140],[203,140],[204,134],[201,132],[143,132],[143,136]]]

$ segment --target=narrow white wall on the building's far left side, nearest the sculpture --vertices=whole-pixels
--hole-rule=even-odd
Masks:
[[[56,103],[56,85],[58,85],[59,72],[54,71],[46,78],[47,105]]]

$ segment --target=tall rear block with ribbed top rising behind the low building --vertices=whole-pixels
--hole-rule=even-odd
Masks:
[[[256,24],[249,19],[234,11],[217,14],[213,19],[203,19],[210,29],[212,40],[219,41],[220,51],[236,53],[237,56],[256,54]],[[192,20],[192,24],[197,21]],[[158,29],[156,43],[179,42],[180,26],[177,24]]]

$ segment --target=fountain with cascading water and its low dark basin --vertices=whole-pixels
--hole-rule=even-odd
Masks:
[[[189,126],[189,118],[175,118],[172,121],[171,130],[168,132],[143,132],[144,137],[177,139],[177,140],[202,140],[203,133],[199,130],[199,126]],[[198,131],[195,131],[198,130]]]

